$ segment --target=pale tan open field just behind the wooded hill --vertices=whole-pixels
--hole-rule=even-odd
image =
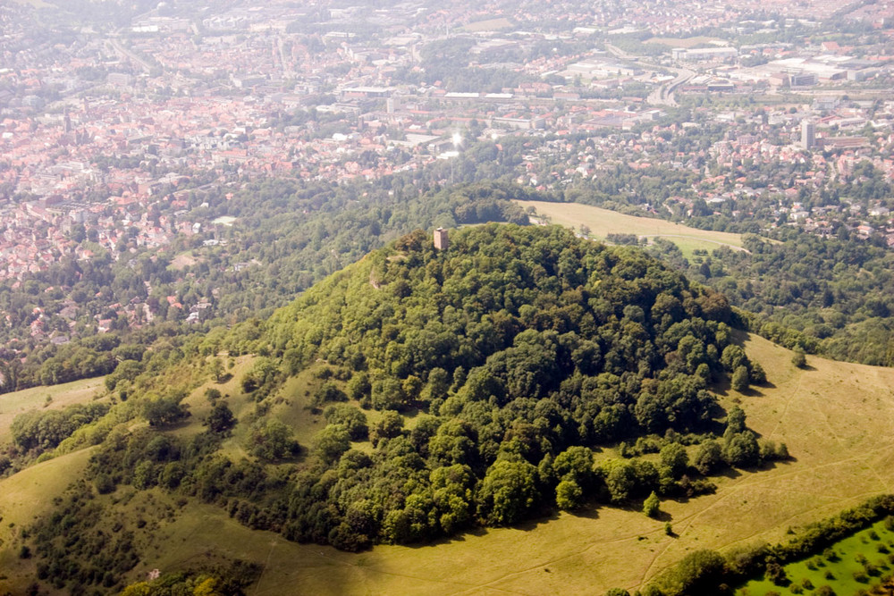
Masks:
[[[581,225],[590,229],[590,237],[604,240],[609,234],[636,234],[648,239],[664,238],[676,244],[683,255],[691,258],[692,251],[703,248],[711,251],[721,246],[742,248],[740,234],[725,231],[698,230],[679,223],[649,217],[620,214],[617,211],[579,203],[548,203],[545,201],[516,201],[524,208],[533,206],[537,214],[547,215],[558,223],[575,231]]]

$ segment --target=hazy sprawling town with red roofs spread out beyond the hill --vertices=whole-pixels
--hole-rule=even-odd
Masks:
[[[153,325],[242,320],[394,234],[501,219],[404,210],[478,180],[894,245],[886,4],[81,4],[0,7],[4,379],[60,353],[106,372],[84,363]],[[302,229],[263,250],[285,213]],[[339,215],[368,226],[336,239]]]

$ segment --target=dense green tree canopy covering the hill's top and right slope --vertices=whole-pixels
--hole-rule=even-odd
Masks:
[[[315,397],[327,426],[281,523],[355,550],[683,490],[689,459],[674,441],[657,467],[595,465],[591,448],[706,432],[720,414],[708,384],[753,367],[730,343],[733,320],[721,296],[636,250],[486,225],[446,251],[422,231],[398,239],[222,347],[267,355],[242,382],[259,396],[283,374],[333,367]],[[383,414],[367,427],[358,405]],[[412,430],[401,414],[417,417]],[[351,449],[367,432],[372,453]],[[751,463],[744,432],[727,450]]]

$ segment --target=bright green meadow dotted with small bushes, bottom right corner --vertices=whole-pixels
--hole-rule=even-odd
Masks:
[[[817,555],[784,567],[791,585],[820,587],[828,585],[836,594],[856,594],[867,586],[879,583],[878,577],[866,573],[866,566],[874,566],[881,575],[890,575],[894,550],[894,532],[884,521],[866,528],[831,548],[832,556]],[[769,592],[789,592],[769,580],[752,581],[740,588],[738,596],[757,596]],[[805,593],[809,593],[805,589]]]

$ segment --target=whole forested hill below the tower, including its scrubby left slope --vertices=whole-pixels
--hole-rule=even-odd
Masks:
[[[728,374],[740,389],[763,378],[731,342],[732,316],[643,252],[560,228],[470,227],[445,251],[417,231],[264,323],[185,347],[170,371],[119,375],[114,393],[130,397],[80,432],[108,437],[65,507],[159,486],[291,540],[359,550],[712,491],[719,468],[784,454],[708,390]],[[224,351],[251,365],[232,369],[222,396]],[[183,432],[187,392],[172,380],[193,389],[202,376],[213,407],[202,432]],[[197,410],[202,390],[187,400]],[[595,449],[619,443],[620,458]],[[66,535],[102,532],[55,519],[31,531],[51,575],[78,557]]]

